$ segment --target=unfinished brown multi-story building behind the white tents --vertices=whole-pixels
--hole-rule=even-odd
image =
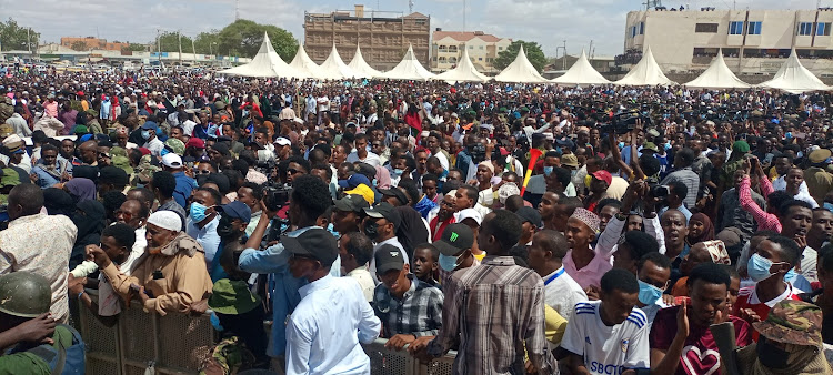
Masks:
[[[428,67],[431,18],[422,13],[365,12],[364,6],[355,6],[353,12],[304,12],[303,19],[303,47],[318,63],[327,60],[333,43],[341,59],[350,62],[358,44],[371,67],[389,70],[402,60],[411,44],[416,59]]]

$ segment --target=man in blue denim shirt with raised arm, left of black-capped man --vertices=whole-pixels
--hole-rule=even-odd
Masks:
[[[298,237],[310,229],[319,227],[315,221],[331,205],[330,190],[327,184],[314,175],[300,175],[293,180],[293,190],[289,200],[289,222],[294,231],[285,236]],[[245,250],[240,254],[238,264],[244,272],[271,274],[274,282],[272,295],[273,322],[270,336],[269,356],[277,361],[275,368],[283,368],[284,352],[287,349],[285,327],[287,321],[298,303],[301,301],[299,288],[308,282],[301,277],[293,277],[289,271],[290,252],[285,251],[282,243],[277,243],[267,249],[261,249],[260,243],[267,233],[267,226],[275,217],[275,206],[268,200],[262,202],[261,219],[258,226],[245,243]],[[341,262],[337,259],[330,267],[330,274],[339,276]]]

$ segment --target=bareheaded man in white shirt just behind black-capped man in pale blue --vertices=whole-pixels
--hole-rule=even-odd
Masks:
[[[341,274],[359,282],[364,298],[373,301],[377,284],[368,272],[368,262],[373,257],[373,242],[364,233],[342,233],[339,239],[339,257],[343,268]]]

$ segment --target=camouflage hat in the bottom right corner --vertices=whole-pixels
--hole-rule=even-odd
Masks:
[[[811,303],[784,300],[764,322],[752,323],[764,337],[779,343],[822,346],[822,310]]]

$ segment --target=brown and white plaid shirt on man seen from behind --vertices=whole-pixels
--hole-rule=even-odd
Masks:
[[[525,374],[524,347],[539,374],[554,372],[544,336],[544,282],[532,270],[511,256],[488,256],[455,272],[443,290],[443,328],[428,353],[439,357],[459,337],[454,374]]]

